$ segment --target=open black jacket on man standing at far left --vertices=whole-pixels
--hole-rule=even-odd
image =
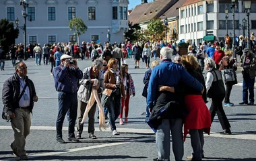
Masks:
[[[30,112],[34,107],[33,97],[36,96],[36,89],[34,88],[34,83],[32,80],[26,76],[26,84],[27,88],[30,89]],[[3,92],[2,92],[2,100],[4,108],[6,108],[7,113],[14,113],[15,109],[19,108],[18,97],[20,96],[20,80],[18,78],[18,74],[14,73],[13,76],[5,80],[3,83]]]

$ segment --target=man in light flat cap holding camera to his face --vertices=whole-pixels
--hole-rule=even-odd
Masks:
[[[59,92],[59,113],[56,122],[57,142],[63,144],[62,138],[63,121],[67,111],[69,111],[69,141],[78,142],[75,138],[75,119],[77,117],[77,80],[82,79],[83,72],[79,70],[77,61],[72,57],[63,54],[61,64],[54,68],[53,76],[56,91]]]

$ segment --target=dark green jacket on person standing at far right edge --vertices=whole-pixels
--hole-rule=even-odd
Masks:
[[[249,64],[248,64],[249,68],[242,68],[242,74],[249,73],[250,78],[253,79],[256,76],[255,55],[250,54],[249,59],[250,59]],[[246,60],[246,56],[243,54],[243,56],[241,56],[241,65],[245,64],[245,60]]]

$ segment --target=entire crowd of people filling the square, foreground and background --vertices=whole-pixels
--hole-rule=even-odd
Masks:
[[[203,42],[198,46],[189,45],[187,54],[183,56],[177,54],[174,42],[164,45],[162,41],[151,44],[135,42],[134,45],[129,41],[113,45],[106,42],[104,48],[102,44],[95,42],[82,42],[81,47],[77,43],[55,43],[53,46],[44,44],[43,47],[35,44],[33,48],[29,46],[29,51],[31,57],[35,58],[36,65],[40,65],[42,59],[44,65],[51,63],[51,74],[58,92],[58,143],[65,143],[62,133],[65,117],[69,121],[70,142],[79,142],[82,138],[83,119],[86,115],[89,117],[88,138],[97,139],[94,133],[97,107],[98,119],[108,120],[106,126],[104,123],[102,126],[108,127],[114,136],[120,134],[115,121],[119,119],[120,125],[129,122],[129,100],[131,96],[135,97],[133,78],[129,73],[129,65],[125,63],[127,58],[133,56],[134,68],[139,68],[142,58],[145,68],[148,69],[143,78],[145,87],[142,95],[146,97],[147,102],[145,121],[156,133],[158,158],[154,160],[170,160],[170,132],[175,160],[183,158],[183,142],[188,133],[193,149],[188,160],[202,160],[205,157],[203,131],[210,134],[210,127],[216,114],[223,129],[220,134],[232,134],[222,101],[224,100],[225,106],[234,105],[230,102],[230,93],[232,86],[237,83],[237,60],[232,58],[234,53],[227,44],[225,47],[224,43]],[[243,51],[240,59],[243,69],[243,101],[240,104],[253,105],[255,54],[253,50],[246,48],[242,39],[239,44],[242,44]],[[14,45],[10,48],[10,54],[14,54],[12,63],[15,74],[3,84],[2,96],[4,119],[11,120],[15,133],[11,149],[20,160],[28,159],[25,140],[30,132],[30,113],[34,102],[38,101],[34,84],[27,76],[23,49],[22,46],[18,46],[17,49]],[[3,52],[0,49],[0,53]],[[161,62],[156,60],[158,52]],[[173,54],[177,55],[172,62]],[[20,62],[15,63],[17,58]],[[92,66],[84,70],[79,69],[78,60],[86,58],[92,60]],[[150,58],[155,60],[150,62]],[[1,67],[2,69],[4,70]],[[206,79],[203,76],[205,70]],[[210,109],[205,105],[207,97],[212,99]],[[96,100],[98,98],[100,100]],[[99,101],[100,105],[97,105]],[[102,111],[104,113],[101,113]]]

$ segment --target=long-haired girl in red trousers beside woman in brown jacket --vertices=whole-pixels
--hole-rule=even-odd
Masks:
[[[133,78],[131,78],[131,74],[128,73],[128,69],[129,66],[127,64],[122,64],[120,74],[123,76],[123,85],[125,87],[126,99],[123,97],[121,99],[121,113],[119,115],[120,125],[123,125],[123,109],[125,109],[125,123],[128,123],[130,95],[133,95],[133,97],[135,96]]]

